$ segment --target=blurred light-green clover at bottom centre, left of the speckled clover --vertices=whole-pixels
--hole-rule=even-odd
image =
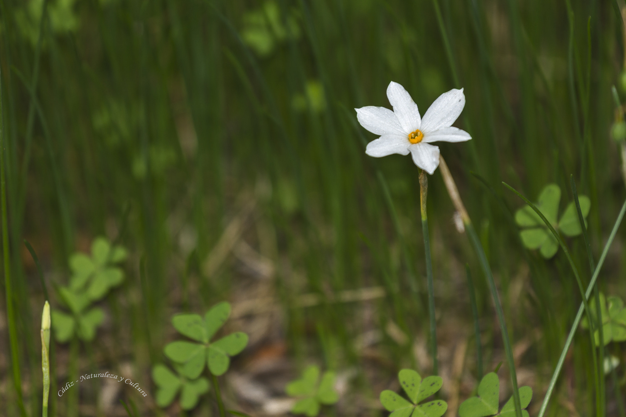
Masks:
[[[333,388],[336,375],[326,371],[319,380],[319,368],[311,365],[304,369],[302,378],[291,381],[285,391],[293,397],[300,399],[291,409],[294,414],[306,414],[315,417],[319,413],[320,404],[331,405],[339,401],[339,394]]]

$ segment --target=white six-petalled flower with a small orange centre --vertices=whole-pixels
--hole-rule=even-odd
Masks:
[[[398,83],[391,81],[387,98],[393,111],[376,106],[356,110],[361,126],[381,137],[367,144],[365,153],[381,156],[398,153],[413,156],[413,162],[429,174],[439,166],[439,147],[431,142],[464,142],[471,136],[466,131],[453,128],[465,106],[463,89],[443,93],[428,108],[424,118],[419,116],[418,105]]]

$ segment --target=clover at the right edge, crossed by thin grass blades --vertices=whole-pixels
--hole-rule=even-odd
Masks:
[[[608,308],[607,308],[608,304]],[[597,323],[597,307],[595,297],[589,301],[589,309],[594,322]],[[604,298],[604,294],[600,293],[600,315],[602,316],[602,336],[604,344],[610,341],[623,342],[626,341],[626,308],[621,298],[611,296]],[[583,329],[589,328],[587,317],[583,317],[580,322]],[[596,329],[593,336],[595,337],[596,346],[600,346],[600,330]]]

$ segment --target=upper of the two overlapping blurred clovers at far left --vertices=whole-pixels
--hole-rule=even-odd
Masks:
[[[74,253],[69,258],[72,276],[69,288],[73,291],[85,289],[91,301],[103,298],[108,291],[121,284],[124,273],[113,264],[126,259],[126,249],[113,246],[103,237],[96,238],[91,244],[91,256]]]

